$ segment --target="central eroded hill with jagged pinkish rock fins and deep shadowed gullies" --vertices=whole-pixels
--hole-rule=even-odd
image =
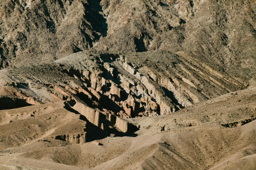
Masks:
[[[11,94],[20,91],[38,103],[74,102],[72,109],[102,129],[104,121],[120,124],[116,116],[171,114],[245,88],[242,81],[199,64],[184,52],[178,54],[86,51],[64,57],[53,65],[20,67],[0,73],[4,88]],[[127,125],[121,126],[126,132]]]

